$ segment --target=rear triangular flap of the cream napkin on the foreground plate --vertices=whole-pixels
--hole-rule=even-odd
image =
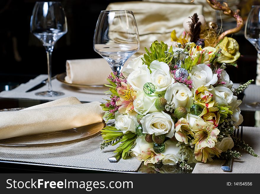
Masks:
[[[46,103],[43,103],[40,105],[28,107],[28,108],[22,109],[22,111],[30,110],[30,109],[37,109],[37,108],[46,108],[46,107],[63,106],[63,105],[77,105],[77,104],[81,104],[81,102],[76,97],[65,97],[65,98],[61,98],[58,100],[53,100],[51,102],[46,102]]]

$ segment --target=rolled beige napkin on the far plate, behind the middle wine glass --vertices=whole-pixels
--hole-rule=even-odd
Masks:
[[[112,72],[108,62],[103,59],[75,59],[66,61],[65,82],[80,85],[104,85]]]

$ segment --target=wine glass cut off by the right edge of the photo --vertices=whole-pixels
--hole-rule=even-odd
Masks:
[[[246,19],[245,38],[254,45],[260,54],[260,6],[252,6]],[[260,109],[260,102],[251,102],[247,106]]]

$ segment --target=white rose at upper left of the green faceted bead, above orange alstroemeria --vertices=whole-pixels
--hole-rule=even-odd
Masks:
[[[127,77],[127,82],[135,91],[142,91],[144,84],[152,82],[150,70],[147,65],[142,65],[137,70],[134,70]]]

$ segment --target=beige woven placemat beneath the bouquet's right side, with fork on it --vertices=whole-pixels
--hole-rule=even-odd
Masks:
[[[243,140],[260,155],[260,127],[243,127]],[[236,149],[238,150],[238,149]],[[260,158],[238,150],[242,156],[233,160],[231,173],[260,173]],[[225,160],[214,160],[212,163],[197,163],[192,173],[230,173],[224,172],[221,165]]]

